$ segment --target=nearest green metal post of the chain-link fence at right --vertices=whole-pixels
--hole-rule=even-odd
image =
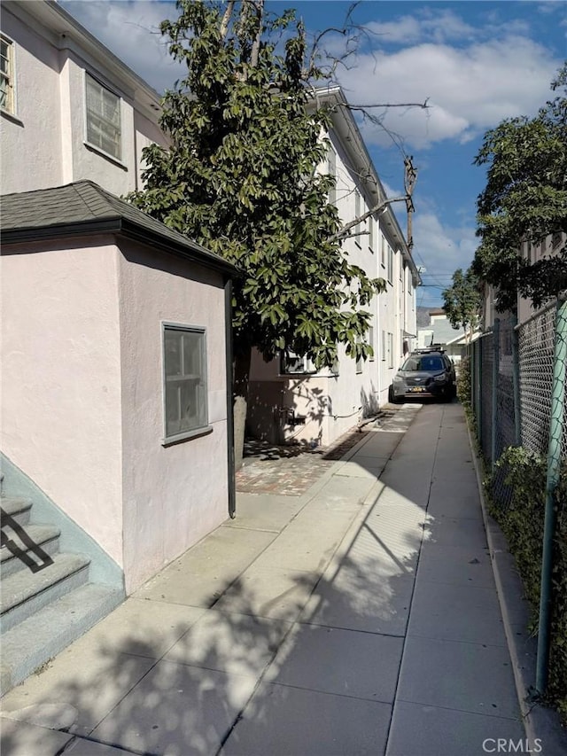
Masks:
[[[555,488],[561,467],[561,440],[565,407],[565,360],[567,360],[567,300],[557,302],[555,321],[555,360],[549,420],[548,477],[546,480],[546,508],[541,557],[540,622],[538,627],[538,656],[535,687],[544,693],[548,686],[549,640],[551,631],[551,573],[555,534]]]

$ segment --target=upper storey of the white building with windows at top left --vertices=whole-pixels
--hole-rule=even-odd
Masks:
[[[166,144],[158,93],[57,3],[4,0],[1,35],[2,192],[138,189],[144,146]]]

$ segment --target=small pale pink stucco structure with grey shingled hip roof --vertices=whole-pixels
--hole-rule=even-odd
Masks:
[[[33,526],[50,523],[61,548],[37,573],[43,589],[70,554],[81,572],[82,555],[79,586],[108,588],[106,608],[234,510],[236,271],[87,181],[4,195],[2,225],[3,565],[22,542],[44,551]],[[3,663],[26,564],[3,573]]]

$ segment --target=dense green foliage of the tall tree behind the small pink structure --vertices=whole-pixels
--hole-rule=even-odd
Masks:
[[[161,24],[187,66],[162,101],[171,145],[144,149],[146,189],[129,199],[243,271],[237,355],[258,347],[268,360],[292,349],[330,366],[342,343],[366,358],[364,308],[385,282],[350,264],[334,238],[334,179],[315,170],[327,155],[329,113],[310,107],[301,24],[294,12],[268,19],[251,0],[230,18],[230,4],[177,8],[179,18]]]

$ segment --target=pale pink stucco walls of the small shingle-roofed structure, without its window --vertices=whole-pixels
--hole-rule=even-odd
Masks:
[[[228,516],[224,292],[188,261],[98,242],[3,250],[0,447],[131,593]],[[162,321],[206,328],[213,428],[167,447]]]

